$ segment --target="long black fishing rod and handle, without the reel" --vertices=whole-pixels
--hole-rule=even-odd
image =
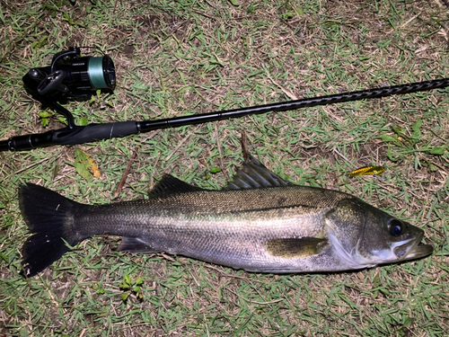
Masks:
[[[447,86],[449,86],[449,78],[443,78],[433,81],[394,85],[358,92],[337,93],[290,102],[277,102],[242,109],[209,112],[164,120],[130,120],[115,123],[89,124],[85,127],[75,126],[73,128],[50,130],[42,134],[11,137],[8,140],[0,141],[0,151],[20,151],[42,146],[82,144],[95,140],[110,139],[112,137],[124,137],[154,129],[178,128],[185,125],[206,123],[215,120],[227,120],[252,114],[290,111],[317,105],[380,98],[394,94],[417,93],[445,88]]]

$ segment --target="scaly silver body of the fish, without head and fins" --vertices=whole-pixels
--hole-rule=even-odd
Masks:
[[[192,191],[150,200],[88,206],[75,215],[81,237],[142,238],[149,250],[257,270],[294,267],[273,257],[265,243],[279,237],[318,235],[325,213],[350,196],[291,186],[243,191]],[[287,261],[284,261],[287,260]]]

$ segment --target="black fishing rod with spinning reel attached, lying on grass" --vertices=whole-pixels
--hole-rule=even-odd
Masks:
[[[108,56],[80,57],[80,49],[57,53],[51,67],[33,68],[23,76],[25,87],[40,102],[66,116],[67,126],[45,133],[11,137],[0,141],[0,151],[22,151],[52,145],[75,145],[113,137],[125,137],[154,129],[178,128],[216,120],[227,120],[267,112],[291,111],[318,105],[380,98],[394,94],[417,93],[449,86],[449,78],[401,84],[357,92],[337,93],[290,102],[277,102],[247,108],[208,112],[163,120],[128,120],[112,123],[75,125],[70,111],[57,103],[60,99],[89,98],[94,90],[112,90],[115,68]]]

